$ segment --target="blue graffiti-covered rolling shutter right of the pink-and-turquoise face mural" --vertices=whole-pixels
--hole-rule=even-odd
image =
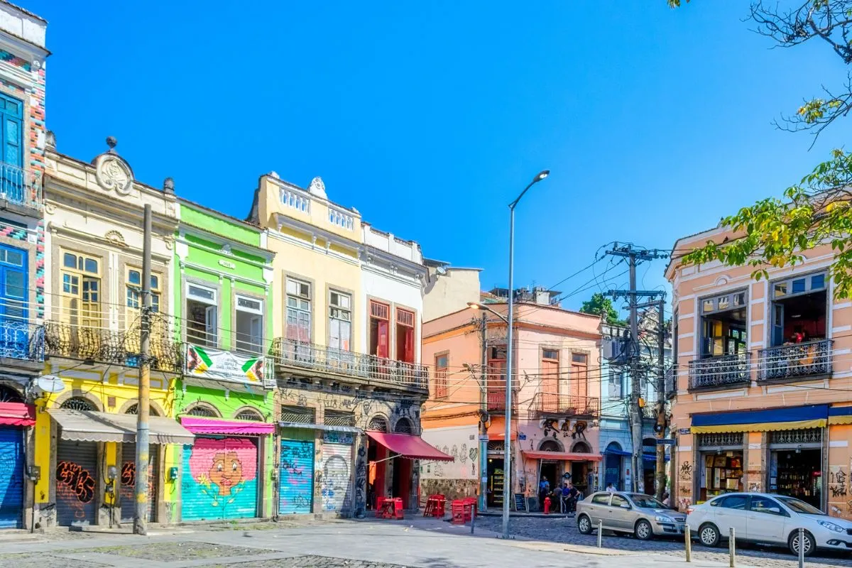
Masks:
[[[282,439],[278,513],[310,513],[314,504],[314,442]]]

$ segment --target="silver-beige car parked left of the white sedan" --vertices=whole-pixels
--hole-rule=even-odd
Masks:
[[[682,535],[686,515],[642,493],[601,492],[577,503],[577,529],[588,535],[602,522],[605,531],[630,532],[647,541],[654,535]]]

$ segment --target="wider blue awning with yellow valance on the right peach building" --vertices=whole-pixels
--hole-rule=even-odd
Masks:
[[[736,433],[822,428],[829,423],[829,410],[828,404],[810,404],[769,410],[698,414],[692,417],[690,430],[692,433]],[[849,419],[850,422],[837,423],[852,424],[852,415]]]

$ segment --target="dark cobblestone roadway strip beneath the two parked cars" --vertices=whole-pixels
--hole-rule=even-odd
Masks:
[[[476,520],[476,528],[490,531],[502,531],[503,521],[499,517],[485,517]],[[584,546],[597,546],[597,534],[581,535],[577,531],[577,523],[569,519],[544,518],[512,518],[509,519],[509,532],[521,538],[529,538],[546,542],[567,542]],[[684,542],[681,539],[658,538],[650,541],[640,541],[632,536],[614,535],[604,532],[603,546],[630,551],[648,551],[684,558]],[[705,548],[698,542],[693,542],[693,559],[708,562],[728,563],[728,548]],[[787,554],[784,548],[737,546],[738,562],[744,565],[760,568],[797,568],[798,560],[792,554]],[[807,566],[849,566],[852,567],[852,552],[839,553],[829,551],[818,552],[815,556],[805,559]]]

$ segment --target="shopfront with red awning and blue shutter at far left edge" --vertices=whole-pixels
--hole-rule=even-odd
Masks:
[[[23,526],[26,428],[35,424],[35,409],[22,403],[0,402],[0,529]]]

